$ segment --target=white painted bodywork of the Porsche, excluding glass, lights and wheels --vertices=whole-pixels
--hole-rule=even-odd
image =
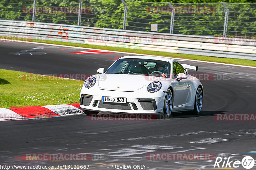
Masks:
[[[152,56],[125,56],[120,59],[151,59],[166,61],[171,64],[171,75],[173,62],[176,60],[167,57],[152,57]],[[120,60],[118,59],[118,60]],[[179,63],[179,62],[178,62]],[[187,65],[189,67],[189,65]],[[194,68],[194,67],[190,67]],[[187,75],[187,79],[177,81],[176,79],[145,76],[145,75],[132,75],[132,74],[95,74],[92,77],[96,78],[95,84],[91,88],[85,88],[83,85],[80,93],[81,95],[91,95],[92,101],[88,106],[82,105],[80,100],[80,109],[91,111],[115,112],[115,113],[164,113],[164,99],[167,89],[171,88],[173,91],[173,112],[193,110],[195,103],[196,90],[199,86],[203,86],[201,82],[191,75]],[[159,81],[162,87],[157,92],[148,92],[148,85],[153,81]],[[189,86],[188,86],[189,85]],[[187,87],[188,86],[188,87]],[[100,101],[102,96],[108,97],[125,97],[127,99],[127,106],[131,110],[113,109],[113,108],[100,108]],[[82,97],[81,97],[82,98]],[[140,99],[154,99],[156,102],[156,110],[144,110],[139,102]],[[97,105],[93,106],[94,101],[98,101]],[[103,102],[101,102],[102,104]],[[132,103],[135,103],[137,110],[134,110]],[[152,102],[153,103],[153,102]],[[116,107],[116,106],[113,106]],[[154,108],[155,109],[155,108]]]

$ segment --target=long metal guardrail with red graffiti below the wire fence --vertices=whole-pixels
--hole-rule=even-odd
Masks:
[[[256,60],[255,42],[236,42],[236,39],[228,41],[230,39],[222,37],[219,39],[220,37],[124,31],[11,20],[0,20],[0,35],[20,35],[28,36],[28,39]],[[218,42],[218,40],[221,41]]]

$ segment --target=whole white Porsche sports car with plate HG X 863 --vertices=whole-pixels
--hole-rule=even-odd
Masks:
[[[166,114],[191,111],[199,114],[203,86],[188,74],[198,67],[167,57],[125,56],[105,72],[84,82],[80,107],[86,115],[102,112]]]

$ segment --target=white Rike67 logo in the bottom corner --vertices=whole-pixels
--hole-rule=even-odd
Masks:
[[[242,165],[245,169],[251,169],[254,166],[254,159],[251,156],[245,156],[242,161],[240,160],[231,160],[230,156],[224,159],[221,157],[217,157],[214,163],[214,168],[238,168],[240,165]]]

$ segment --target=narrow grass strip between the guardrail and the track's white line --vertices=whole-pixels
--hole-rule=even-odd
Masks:
[[[33,40],[28,39],[28,41],[33,41]],[[209,56],[192,55],[192,54],[177,54],[177,53],[157,52],[157,51],[122,48],[122,47],[110,47],[110,46],[97,46],[97,45],[87,45],[87,44],[78,44],[78,43],[68,43],[68,42],[59,42],[59,41],[46,41],[46,40],[37,40],[36,41],[36,40],[34,40],[34,42],[58,44],[58,45],[65,45],[65,46],[77,46],[77,47],[84,47],[84,48],[96,48],[96,49],[102,49],[102,50],[120,51],[120,52],[127,52],[127,53],[157,55],[157,56],[165,56],[165,57],[190,59],[190,60],[212,61],[212,62],[219,62],[219,63],[256,67],[256,61],[254,61],[254,60],[209,57]]]

